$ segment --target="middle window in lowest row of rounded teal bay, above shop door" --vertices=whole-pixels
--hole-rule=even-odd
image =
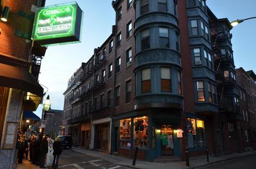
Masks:
[[[171,92],[171,70],[161,67],[161,91]]]

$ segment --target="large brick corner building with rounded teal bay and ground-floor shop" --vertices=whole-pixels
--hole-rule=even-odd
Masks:
[[[227,18],[204,0],[113,1],[109,38],[73,74],[63,134],[75,146],[154,161],[243,151]]]

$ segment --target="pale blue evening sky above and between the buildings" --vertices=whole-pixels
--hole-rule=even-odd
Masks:
[[[178,0],[185,1],[185,0]],[[68,0],[46,0],[46,6],[73,2]],[[115,24],[115,11],[112,0],[77,0],[83,11],[82,42],[48,47],[42,60],[40,84],[48,88],[52,109],[63,110],[62,93],[67,88],[68,78],[93,54],[93,49],[109,37],[111,26]],[[255,0],[207,0],[206,4],[218,18],[229,21],[256,16]],[[234,61],[237,68],[256,72],[256,19],[244,21],[231,31]],[[37,116],[42,116],[42,105],[38,106]]]

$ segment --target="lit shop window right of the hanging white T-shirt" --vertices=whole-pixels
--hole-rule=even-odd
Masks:
[[[195,118],[187,118],[186,127],[188,128],[188,147],[204,148],[204,121]]]

